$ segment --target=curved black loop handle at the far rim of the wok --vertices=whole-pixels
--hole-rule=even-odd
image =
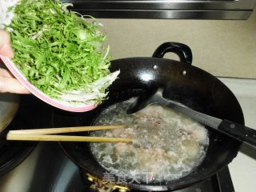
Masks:
[[[182,44],[180,42],[164,42],[162,45],[158,46],[158,48],[154,51],[153,58],[163,58],[163,56],[172,52],[174,54],[178,54],[181,62],[186,62],[191,65],[192,63],[192,51],[189,46]]]

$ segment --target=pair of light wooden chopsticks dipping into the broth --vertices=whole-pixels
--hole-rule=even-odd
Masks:
[[[124,126],[77,126],[35,130],[10,130],[6,135],[6,140],[48,142],[132,142],[132,138],[58,135],[64,133],[84,132],[92,130],[114,130],[121,128],[124,128]]]

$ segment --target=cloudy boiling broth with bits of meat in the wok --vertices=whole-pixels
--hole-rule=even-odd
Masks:
[[[111,174],[138,182],[181,178],[206,156],[209,143],[204,126],[162,106],[147,106],[126,114],[130,102],[110,106],[94,125],[125,125],[123,129],[91,132],[95,137],[134,138],[134,142],[92,142],[94,158]]]

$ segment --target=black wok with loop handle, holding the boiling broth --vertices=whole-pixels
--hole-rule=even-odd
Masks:
[[[174,52],[181,62],[162,58]],[[54,126],[88,126],[98,114],[115,102],[138,96],[154,86],[165,87],[164,97],[181,102],[194,110],[217,118],[244,124],[242,109],[234,94],[213,75],[191,66],[190,48],[180,43],[166,42],[159,46],[153,58],[122,58],[112,61],[111,70],[121,70],[118,80],[110,86],[109,99],[95,110],[82,114],[56,110]],[[178,180],[156,183],[128,183],[134,190],[176,190],[199,182],[228,165],[238,154],[241,142],[209,130],[210,144],[202,164]],[[89,143],[61,142],[62,149],[78,166],[98,178],[104,168],[90,152]],[[129,182],[129,180],[128,180]]]

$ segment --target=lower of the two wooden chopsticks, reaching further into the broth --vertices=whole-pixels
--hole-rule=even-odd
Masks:
[[[15,141],[48,141],[48,142],[132,142],[132,138],[103,138],[86,136],[67,136],[49,134],[12,134],[8,133],[7,140]]]

